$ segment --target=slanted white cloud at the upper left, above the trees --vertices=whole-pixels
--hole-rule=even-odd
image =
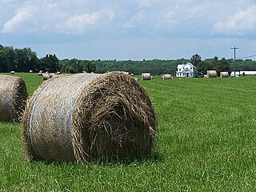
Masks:
[[[2,33],[9,34],[17,30],[24,22],[32,21],[36,11],[34,6],[25,6],[17,10],[13,18],[3,25]]]

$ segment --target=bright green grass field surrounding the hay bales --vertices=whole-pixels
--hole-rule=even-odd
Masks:
[[[30,95],[42,79],[26,80]],[[0,191],[255,191],[256,78],[140,81],[158,116],[154,158],[47,164],[22,153],[22,126],[0,123]]]

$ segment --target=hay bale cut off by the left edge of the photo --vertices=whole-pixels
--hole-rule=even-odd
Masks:
[[[0,121],[19,122],[28,97],[22,78],[0,75]]]

